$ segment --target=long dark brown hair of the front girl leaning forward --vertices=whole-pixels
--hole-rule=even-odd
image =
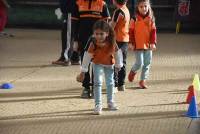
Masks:
[[[103,20],[96,21],[93,26],[93,31],[97,29],[107,32],[108,37],[106,38],[106,40],[109,42],[109,44],[116,45],[115,32],[113,28],[106,21]]]

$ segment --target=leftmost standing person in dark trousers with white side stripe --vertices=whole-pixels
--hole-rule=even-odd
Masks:
[[[62,12],[62,29],[61,29],[61,40],[62,50],[58,60],[53,61],[52,64],[57,65],[70,65],[79,63],[79,56],[76,51],[73,52],[73,20],[71,13],[74,12],[75,1],[74,0],[59,0],[60,9]],[[73,57],[73,60],[71,61]]]

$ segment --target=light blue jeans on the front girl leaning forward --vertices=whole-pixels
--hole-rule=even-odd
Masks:
[[[114,89],[114,66],[103,66],[100,64],[93,63],[94,72],[94,99],[95,105],[102,105],[102,85],[103,85],[103,75],[105,74],[106,80],[106,92],[107,92],[107,103],[112,103],[113,101],[113,89]]]

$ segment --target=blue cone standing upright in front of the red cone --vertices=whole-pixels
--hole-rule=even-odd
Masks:
[[[190,118],[198,118],[199,117],[198,105],[196,103],[196,97],[195,96],[192,97],[192,100],[190,102],[186,116],[190,117]]]

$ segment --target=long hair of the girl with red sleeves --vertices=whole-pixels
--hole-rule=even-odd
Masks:
[[[152,10],[152,8],[151,8],[150,0],[137,0],[137,2],[136,2],[136,8],[135,8],[135,13],[136,13],[136,14],[139,14],[138,5],[139,5],[141,2],[147,2],[147,3],[149,4],[148,15],[151,17],[151,19],[153,20],[153,22],[155,22],[155,16],[154,16],[153,10]]]

